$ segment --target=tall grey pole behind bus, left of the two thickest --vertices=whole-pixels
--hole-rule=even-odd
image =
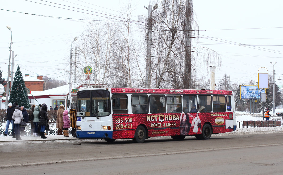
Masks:
[[[146,66],[145,66],[145,88],[151,87],[151,31],[152,31],[152,5],[148,5],[147,19],[147,51],[146,51]]]

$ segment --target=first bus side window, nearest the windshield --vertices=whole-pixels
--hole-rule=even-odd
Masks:
[[[120,105],[117,105],[116,100],[120,99]],[[113,98],[113,114],[127,114],[128,113],[128,97],[127,95],[117,94]]]

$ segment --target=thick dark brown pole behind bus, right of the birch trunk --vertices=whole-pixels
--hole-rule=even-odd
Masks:
[[[192,1],[186,0],[186,17],[185,17],[185,71],[184,71],[184,87],[191,88],[192,82],[192,55],[191,55],[191,31],[192,31]]]

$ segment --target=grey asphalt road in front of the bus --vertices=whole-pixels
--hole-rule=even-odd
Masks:
[[[0,174],[283,174],[283,133],[0,145]],[[81,143],[80,145],[77,145]]]

